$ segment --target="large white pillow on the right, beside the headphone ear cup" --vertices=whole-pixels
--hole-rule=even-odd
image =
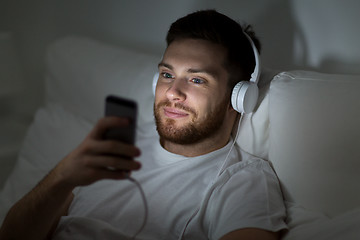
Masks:
[[[360,76],[284,72],[271,83],[269,159],[286,198],[330,216],[360,203]]]

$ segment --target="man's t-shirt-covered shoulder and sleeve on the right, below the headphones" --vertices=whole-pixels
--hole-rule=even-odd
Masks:
[[[269,162],[249,156],[227,167],[213,184],[207,215],[214,239],[244,228],[279,231],[286,216],[279,181]]]

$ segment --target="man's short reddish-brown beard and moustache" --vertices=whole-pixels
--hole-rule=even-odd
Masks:
[[[188,123],[180,127],[176,126],[176,120],[163,119],[162,117],[161,111],[163,111],[163,107],[171,107],[171,103],[168,100],[154,104],[154,116],[160,141],[163,142],[165,140],[176,144],[188,145],[211,138],[218,133],[224,123],[227,103],[227,98],[224,98],[203,120],[198,120],[198,114],[194,109],[186,107],[181,103],[175,103],[175,108],[188,112],[191,118]]]

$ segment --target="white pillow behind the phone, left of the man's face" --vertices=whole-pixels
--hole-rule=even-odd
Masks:
[[[93,39],[70,36],[46,55],[46,102],[57,103],[90,122],[104,114],[108,94],[139,103],[138,124],[153,121],[152,78],[160,56]]]

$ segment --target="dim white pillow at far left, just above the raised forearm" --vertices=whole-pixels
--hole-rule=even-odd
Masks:
[[[85,138],[92,124],[49,104],[36,112],[13,172],[0,193],[0,224],[8,209]]]

